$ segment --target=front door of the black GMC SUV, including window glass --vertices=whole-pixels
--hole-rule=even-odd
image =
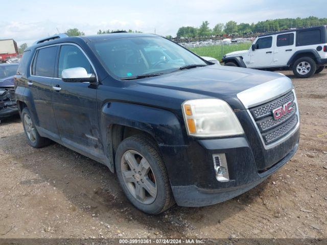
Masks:
[[[98,85],[86,82],[63,82],[64,69],[83,67],[88,74],[95,74],[82,49],[74,44],[60,46],[53,84],[53,107],[60,137],[63,143],[93,156],[101,155],[102,146],[97,113]],[[99,156],[100,156],[99,155]]]

